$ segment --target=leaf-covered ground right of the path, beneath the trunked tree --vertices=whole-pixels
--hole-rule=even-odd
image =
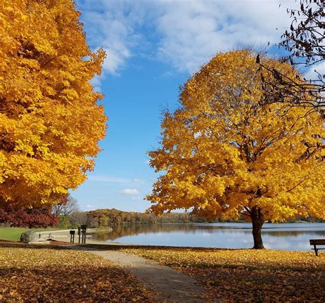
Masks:
[[[325,300],[325,252],[276,250],[128,249],[195,278],[210,300]]]

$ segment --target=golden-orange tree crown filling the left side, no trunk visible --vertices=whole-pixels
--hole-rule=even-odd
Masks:
[[[86,180],[106,131],[72,0],[0,2],[0,206],[44,207]]]

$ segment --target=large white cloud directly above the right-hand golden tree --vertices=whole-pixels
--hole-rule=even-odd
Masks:
[[[289,24],[280,1],[164,1],[158,56],[192,73],[218,51],[280,40]],[[279,31],[276,31],[276,27]]]

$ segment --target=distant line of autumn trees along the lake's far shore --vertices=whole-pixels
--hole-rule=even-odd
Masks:
[[[164,213],[154,215],[154,213],[126,212],[115,208],[97,209],[91,211],[80,211],[77,200],[67,195],[62,197],[60,204],[53,208],[24,208],[19,204],[8,204],[0,207],[0,226],[26,227],[26,228],[77,228],[82,224],[88,228],[108,228],[114,227],[115,233],[121,234],[121,230],[127,232],[132,228],[136,233],[136,226],[148,226],[148,231],[152,230],[152,224],[156,223],[204,223],[204,222],[245,222],[245,217],[239,219],[206,219],[191,213]],[[287,223],[296,221],[322,222],[313,217],[297,217],[287,220]],[[158,224],[159,225],[159,224]],[[159,228],[159,227],[156,227]],[[143,228],[142,228],[143,230]],[[129,231],[130,232],[130,231]],[[114,234],[112,234],[114,239]]]

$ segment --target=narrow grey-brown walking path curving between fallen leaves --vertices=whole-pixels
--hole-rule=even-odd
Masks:
[[[86,247],[82,247],[86,249]],[[203,287],[197,286],[195,280],[167,266],[114,250],[88,250],[120,265],[139,278],[147,289],[160,293],[157,300],[163,302],[204,302],[200,295],[206,293]]]

